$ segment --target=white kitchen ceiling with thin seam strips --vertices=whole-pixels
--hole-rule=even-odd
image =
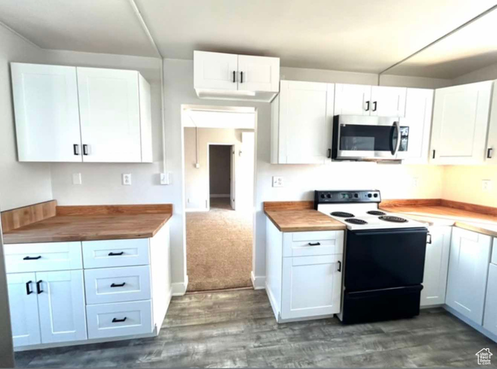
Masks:
[[[277,56],[282,66],[376,73],[496,3],[496,0],[135,1],[165,58],[192,59],[193,50],[208,50]],[[156,56],[129,0],[2,0],[0,21],[46,49]],[[438,54],[423,53],[426,55],[423,60],[413,60],[405,64],[402,72],[396,68],[395,73],[444,78],[477,69],[475,65],[497,62],[496,48],[492,44],[489,50],[484,42],[478,50],[479,56],[469,61],[467,43],[468,40],[466,44],[452,43]],[[450,61],[464,60],[439,67],[447,54],[451,54]],[[434,68],[430,69],[429,65]]]

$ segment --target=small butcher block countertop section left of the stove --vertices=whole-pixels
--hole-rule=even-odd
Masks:
[[[341,231],[345,225],[313,208],[312,201],[264,202],[264,213],[281,232]]]

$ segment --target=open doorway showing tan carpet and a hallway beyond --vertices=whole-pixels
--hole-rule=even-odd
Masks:
[[[254,114],[249,118],[251,125],[247,114],[195,112],[193,126],[183,128],[188,292],[252,286]]]

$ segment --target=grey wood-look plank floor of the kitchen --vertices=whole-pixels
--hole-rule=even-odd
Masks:
[[[173,298],[157,338],[15,358],[19,367],[478,367],[475,354],[487,347],[497,355],[493,341],[442,308],[371,324],[278,325],[265,291],[243,290]]]

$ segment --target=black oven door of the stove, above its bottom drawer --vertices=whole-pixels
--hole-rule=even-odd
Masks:
[[[345,291],[422,283],[427,234],[426,228],[347,231]]]

